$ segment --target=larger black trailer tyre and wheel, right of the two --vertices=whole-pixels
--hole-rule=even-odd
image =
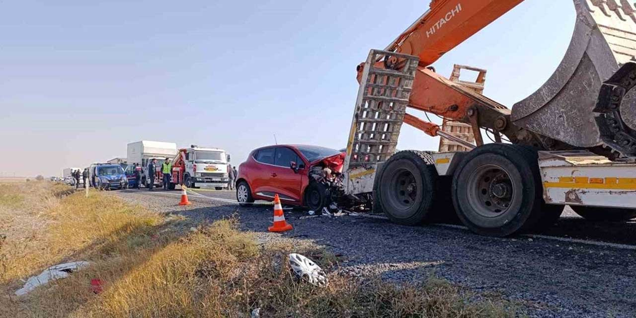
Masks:
[[[457,216],[480,235],[506,237],[535,226],[544,206],[542,193],[536,155],[513,144],[473,149],[453,176]]]

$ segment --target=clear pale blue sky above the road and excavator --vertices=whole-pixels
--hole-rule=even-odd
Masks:
[[[357,64],[429,2],[2,1],[0,176],[57,176],[142,139],[235,165],[273,134],[343,148]],[[527,0],[435,66],[488,69],[485,94],[512,106],[558,65],[574,17],[572,1]],[[437,148],[402,132],[400,149]]]

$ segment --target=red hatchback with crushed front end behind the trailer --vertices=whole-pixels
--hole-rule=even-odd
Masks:
[[[258,148],[239,166],[237,200],[247,205],[254,200],[306,206],[321,211],[328,204],[329,183],[342,173],[345,154],[319,146],[297,144]]]

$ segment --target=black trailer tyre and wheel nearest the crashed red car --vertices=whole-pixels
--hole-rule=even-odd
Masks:
[[[384,163],[374,202],[393,223],[418,225],[431,215],[437,193],[437,170],[426,153],[399,151]]]

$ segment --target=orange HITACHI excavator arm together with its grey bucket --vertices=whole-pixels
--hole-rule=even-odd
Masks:
[[[401,56],[417,57],[407,106],[470,124],[478,144],[480,128],[486,128],[497,139],[503,134],[513,143],[540,149],[636,156],[636,111],[630,104],[635,99],[626,91],[633,86],[626,83],[633,67],[619,72],[622,78],[614,76],[636,55],[636,10],[625,0],[573,1],[576,26],[562,63],[512,110],[449,81],[430,65],[523,0],[432,0],[430,9],[385,49],[396,54],[378,57],[373,67],[400,71],[408,64]],[[363,71],[361,64],[360,82]],[[597,106],[602,85],[604,96],[619,101],[599,100]],[[438,135],[434,123],[410,114],[404,114],[404,122]]]

